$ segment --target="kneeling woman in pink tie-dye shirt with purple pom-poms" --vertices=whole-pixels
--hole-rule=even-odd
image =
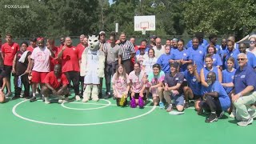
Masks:
[[[136,105],[138,105],[138,99],[141,97],[146,101],[146,72],[140,69],[140,63],[134,64],[134,70],[130,72],[130,96],[135,99]],[[142,107],[142,106],[140,106]]]

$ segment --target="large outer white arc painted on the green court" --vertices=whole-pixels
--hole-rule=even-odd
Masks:
[[[45,124],[45,125],[52,125],[52,126],[95,126],[95,125],[103,125],[103,124],[110,124],[110,123],[117,123],[117,122],[125,122],[125,121],[130,121],[136,118],[141,118],[143,116],[146,116],[147,114],[150,114],[151,112],[154,111],[154,109],[156,108],[156,106],[153,106],[149,111],[147,111],[144,114],[140,114],[134,117],[130,117],[130,118],[123,118],[123,119],[118,119],[118,120],[114,120],[114,121],[109,121],[109,122],[93,122],[93,123],[59,123],[59,122],[43,122],[43,121],[38,121],[38,120],[34,120],[31,118],[26,118],[23,117],[22,115],[18,114],[16,112],[16,109],[18,106],[20,106],[22,103],[27,102],[28,100],[22,101],[22,102],[18,102],[12,109],[13,114],[18,117],[18,118],[22,118],[23,120],[29,121],[29,122],[35,122],[35,123],[40,123],[40,124]]]

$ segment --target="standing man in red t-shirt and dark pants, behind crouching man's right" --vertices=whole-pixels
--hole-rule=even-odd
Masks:
[[[72,81],[74,86],[75,99],[81,100],[79,97],[79,60],[78,60],[78,49],[72,46],[70,37],[65,38],[65,45],[58,53],[58,58],[62,59],[62,72],[66,74],[66,78],[69,83]]]

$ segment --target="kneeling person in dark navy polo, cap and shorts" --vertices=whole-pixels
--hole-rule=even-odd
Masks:
[[[184,75],[178,72],[178,66],[178,62],[170,63],[170,73],[165,75],[163,95],[168,103],[167,112],[173,110],[171,101],[173,101],[179,112],[184,110],[184,95],[182,90]]]

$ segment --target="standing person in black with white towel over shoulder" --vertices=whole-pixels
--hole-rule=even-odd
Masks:
[[[28,47],[28,43],[22,42],[21,50],[19,50],[17,54],[14,56],[12,72],[14,73],[15,94],[12,99],[20,98],[21,91],[22,91],[22,84],[25,88],[24,95],[22,96],[22,98],[29,98],[30,96],[30,82],[29,82],[28,74],[30,74],[31,52],[27,50],[27,47]],[[20,80],[19,80],[19,77],[20,77]]]

